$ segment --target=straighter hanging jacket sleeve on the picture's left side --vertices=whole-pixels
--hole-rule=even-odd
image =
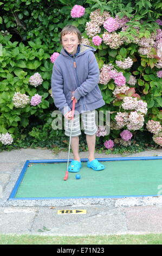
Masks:
[[[51,90],[55,106],[59,108],[62,114],[66,114],[71,109],[68,106],[66,97],[63,92],[63,76],[59,66],[54,64],[53,73],[51,76]]]

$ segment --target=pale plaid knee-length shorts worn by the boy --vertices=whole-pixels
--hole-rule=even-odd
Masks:
[[[98,127],[95,123],[95,110],[87,111],[81,113],[81,120],[83,123],[83,127],[85,130],[85,134],[87,135],[94,135],[98,130]],[[65,132],[66,136],[70,136],[70,127],[71,127],[72,120],[68,120],[65,118]],[[73,125],[72,125],[72,137],[81,135],[81,128],[80,128],[80,114],[74,115]]]

